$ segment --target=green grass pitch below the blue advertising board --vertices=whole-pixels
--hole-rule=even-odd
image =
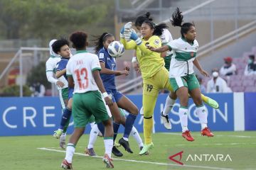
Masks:
[[[143,139],[143,134],[140,134]],[[130,137],[130,146],[134,154],[125,152],[123,157],[113,157],[114,169],[122,170],[161,170],[161,169],[244,169],[245,165],[238,164],[235,161],[222,166],[218,162],[210,164],[192,163],[191,165],[181,166],[169,160],[171,149],[200,149],[206,147],[209,149],[249,149],[256,151],[256,132],[215,132],[215,137],[202,137],[200,132],[192,132],[195,138],[194,142],[187,142],[181,137],[181,133],[156,133],[153,134],[154,149],[148,156],[139,156],[139,147],[132,137]],[[69,137],[69,136],[68,136]],[[83,154],[88,142],[88,135],[83,135],[76,147],[76,153],[73,157],[73,169],[105,169],[101,156],[104,154],[103,138],[98,137],[95,144],[95,152],[100,157],[88,157]],[[117,140],[121,134],[117,136]],[[18,136],[18,137],[0,137],[0,162],[1,169],[4,170],[50,170],[60,169],[60,163],[65,157],[65,150],[58,147],[58,140],[52,136]],[[38,149],[41,148],[41,149]],[[238,153],[239,154],[239,153]],[[250,159],[252,161],[249,168],[256,168],[256,155],[249,154],[248,157],[241,159]],[[178,158],[177,158],[178,159]]]

